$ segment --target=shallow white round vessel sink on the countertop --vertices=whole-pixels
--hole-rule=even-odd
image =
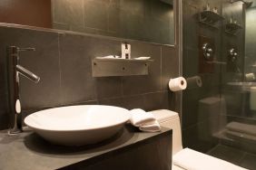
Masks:
[[[127,109],[82,105],[35,112],[25,118],[25,124],[54,144],[83,146],[112,137],[129,118]]]

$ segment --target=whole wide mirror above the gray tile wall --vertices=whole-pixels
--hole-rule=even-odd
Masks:
[[[1,0],[0,22],[174,44],[173,0]]]

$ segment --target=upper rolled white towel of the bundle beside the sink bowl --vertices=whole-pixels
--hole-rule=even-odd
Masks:
[[[134,127],[140,127],[143,124],[147,124],[155,120],[152,113],[145,112],[143,109],[132,109],[130,110],[130,113],[130,121]]]

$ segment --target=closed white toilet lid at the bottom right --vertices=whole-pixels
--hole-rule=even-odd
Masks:
[[[189,148],[184,148],[173,157],[173,164],[192,170],[246,170],[222,159],[208,156]]]

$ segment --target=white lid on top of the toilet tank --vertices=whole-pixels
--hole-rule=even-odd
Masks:
[[[157,109],[149,112],[151,112],[154,118],[156,118],[160,123],[163,121],[171,120],[173,118],[179,118],[179,114],[177,112],[171,111],[169,109]]]

